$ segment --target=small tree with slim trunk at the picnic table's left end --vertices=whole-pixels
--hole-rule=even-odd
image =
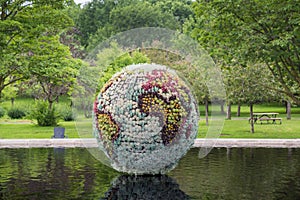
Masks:
[[[251,133],[254,133],[254,104],[274,100],[275,94],[272,90],[274,79],[270,71],[263,64],[254,64],[246,67],[231,66],[224,75],[229,108],[231,103],[248,104],[250,108],[250,130]],[[231,110],[228,109],[227,112],[231,112]]]

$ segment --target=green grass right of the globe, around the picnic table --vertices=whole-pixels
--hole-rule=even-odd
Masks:
[[[220,110],[220,108],[215,108]],[[300,107],[292,108],[292,119],[286,120],[285,107],[282,104],[254,105],[254,112],[278,112],[282,118],[282,124],[254,125],[255,133],[250,132],[249,106],[241,107],[241,116],[236,117],[237,106],[232,106],[232,119],[225,120],[220,138],[300,138]],[[199,123],[199,138],[206,137],[208,127],[205,124],[204,107],[200,107],[201,120]],[[216,134],[216,133],[214,133]]]

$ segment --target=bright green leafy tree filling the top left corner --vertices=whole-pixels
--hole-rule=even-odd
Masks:
[[[62,12],[65,3],[0,1],[0,98],[4,88],[30,77],[31,46],[40,37],[56,35],[72,24]]]

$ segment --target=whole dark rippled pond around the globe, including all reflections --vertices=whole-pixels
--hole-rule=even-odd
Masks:
[[[300,199],[300,149],[198,152],[167,175],[129,176],[84,148],[0,149],[0,199]]]

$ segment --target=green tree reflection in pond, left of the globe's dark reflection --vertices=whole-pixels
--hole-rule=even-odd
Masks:
[[[0,149],[0,199],[98,199],[117,175],[86,149]]]

